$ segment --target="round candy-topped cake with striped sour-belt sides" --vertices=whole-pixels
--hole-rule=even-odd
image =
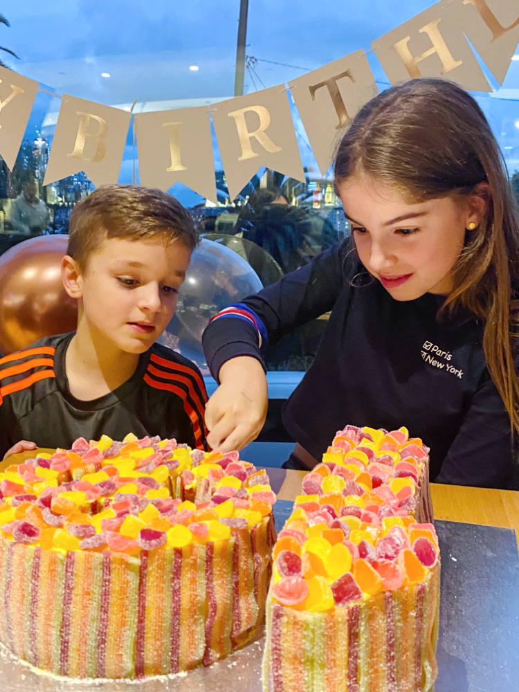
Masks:
[[[0,473],[0,641],[71,677],[209,665],[264,621],[275,495],[237,452],[78,439]]]

